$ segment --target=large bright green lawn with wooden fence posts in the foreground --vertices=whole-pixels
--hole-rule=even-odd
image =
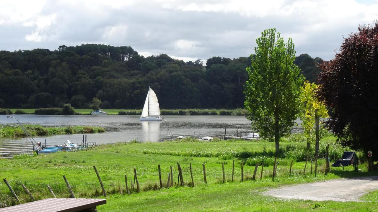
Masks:
[[[291,146],[291,150],[294,148],[296,152],[300,152],[299,150],[304,149],[305,143],[285,142],[281,146],[282,154],[285,155],[288,152],[287,146]],[[296,159],[294,159],[292,175],[289,176],[290,164],[287,165],[285,161],[291,161],[292,155],[285,155],[279,159],[277,178],[274,182],[271,178],[273,172],[271,165],[264,167],[262,179],[257,177],[257,180],[252,181],[254,166],[247,161],[259,161],[256,158],[260,157],[273,158],[270,155],[273,149],[274,143],[263,140],[201,142],[188,139],[158,143],[134,141],[103,145],[92,151],[60,152],[35,157],[16,157],[19,159],[0,159],[0,169],[2,177],[7,178],[23,203],[30,201],[30,198],[23,191],[22,183],[28,187],[36,199],[51,197],[47,184],[52,187],[57,197],[69,197],[62,175],[66,175],[76,198],[101,197],[101,187],[93,170],[93,165],[95,165],[108,194],[107,204],[99,207],[99,211],[144,211],[150,209],[168,211],[173,209],[184,211],[310,211],[315,207],[316,210],[323,211],[344,211],[346,209],[364,211],[367,208],[378,210],[375,203],[282,201],[260,194],[261,190],[284,184],[371,174],[365,172],[366,167],[359,166],[364,172],[352,172],[353,167],[345,167],[345,171],[342,171],[342,168],[332,168],[332,172],[325,176],[322,174],[325,160],[321,158],[318,167],[320,172],[317,177],[310,175],[308,164],[307,172],[303,175],[304,162]],[[337,148],[335,151],[342,154],[343,149]],[[231,182],[233,160],[235,161],[235,180]],[[183,187],[176,186],[178,182],[177,162],[181,164],[183,171],[185,182]],[[192,164],[195,187],[191,187],[189,163]],[[222,183],[222,163],[225,166],[226,183]],[[244,181],[241,181],[241,163],[244,164]],[[167,183],[170,166],[172,166],[173,187],[160,190],[158,164],[161,167],[164,186]],[[203,180],[202,164],[206,166],[207,184]],[[125,194],[124,175],[127,175],[130,187],[134,168],[138,174],[141,192],[127,195]],[[260,176],[260,172],[259,167],[257,176]],[[15,204],[4,183],[0,183],[0,202],[3,203],[3,206]]]

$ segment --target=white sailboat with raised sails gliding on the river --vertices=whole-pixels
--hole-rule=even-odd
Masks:
[[[158,97],[150,87],[148,87],[146,101],[139,121],[163,121],[163,117],[160,116]]]

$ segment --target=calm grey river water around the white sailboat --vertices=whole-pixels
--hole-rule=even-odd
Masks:
[[[105,128],[105,133],[88,134],[87,142],[96,144],[138,141],[162,141],[173,136],[236,136],[236,128],[239,133],[251,133],[250,121],[244,116],[175,116],[166,115],[166,121],[139,121],[138,115],[14,115],[23,124],[40,124],[42,126],[74,126],[87,125]],[[0,115],[0,126],[14,124],[13,118]],[[14,124],[15,125],[15,124]],[[293,131],[298,131],[293,128]],[[70,140],[73,143],[81,143],[81,134],[54,135],[48,137],[36,137],[37,142],[47,145],[60,145]],[[32,152],[33,147],[26,138],[0,139],[0,155],[9,157],[12,154]]]

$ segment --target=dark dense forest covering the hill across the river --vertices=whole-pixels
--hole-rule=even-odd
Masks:
[[[321,58],[296,57],[306,79],[317,79]],[[166,54],[143,57],[130,46],[82,44],[57,50],[0,51],[0,108],[141,109],[148,86],[160,108],[243,108],[250,57],[184,62]]]

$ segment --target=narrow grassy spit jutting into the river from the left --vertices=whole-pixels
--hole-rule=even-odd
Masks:
[[[43,127],[39,124],[23,124],[23,126],[32,136],[105,132],[104,128],[93,126]],[[0,138],[19,137],[26,137],[26,134],[22,129],[11,126],[6,126],[0,129]]]

